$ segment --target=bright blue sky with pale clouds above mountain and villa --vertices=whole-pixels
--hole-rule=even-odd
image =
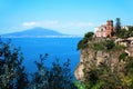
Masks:
[[[84,34],[106,20],[133,24],[133,0],[0,0],[0,34],[43,27]]]

